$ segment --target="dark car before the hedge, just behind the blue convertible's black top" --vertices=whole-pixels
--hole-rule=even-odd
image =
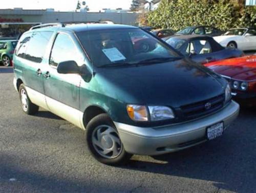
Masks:
[[[190,26],[183,28],[178,31],[177,35],[189,35],[189,34],[198,34],[198,35],[208,35],[208,36],[220,36],[223,32],[215,27],[211,26]]]

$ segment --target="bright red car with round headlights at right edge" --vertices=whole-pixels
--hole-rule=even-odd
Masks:
[[[234,99],[246,106],[256,106],[256,55],[220,60],[205,66],[226,78]]]

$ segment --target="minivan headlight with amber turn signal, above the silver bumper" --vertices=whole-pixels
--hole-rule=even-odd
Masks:
[[[164,106],[127,105],[126,109],[131,119],[142,122],[166,120],[175,117],[173,110]]]

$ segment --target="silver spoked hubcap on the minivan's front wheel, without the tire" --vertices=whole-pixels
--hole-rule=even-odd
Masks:
[[[92,143],[95,151],[108,159],[118,157],[123,149],[117,131],[108,125],[100,125],[94,129]]]

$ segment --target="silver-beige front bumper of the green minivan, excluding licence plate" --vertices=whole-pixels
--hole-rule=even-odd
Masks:
[[[239,105],[231,101],[215,114],[186,123],[144,128],[114,122],[124,149],[131,154],[159,155],[205,142],[206,128],[219,122],[226,127],[238,116]]]

